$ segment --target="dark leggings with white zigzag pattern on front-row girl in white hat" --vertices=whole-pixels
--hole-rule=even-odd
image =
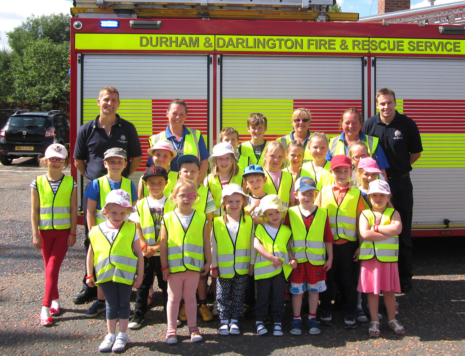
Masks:
[[[216,282],[216,300],[221,320],[238,320],[242,314],[246,290],[247,275],[235,274],[233,278],[218,277]],[[233,300],[230,305],[229,301]]]

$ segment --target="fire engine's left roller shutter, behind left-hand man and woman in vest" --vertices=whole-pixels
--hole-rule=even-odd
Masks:
[[[148,138],[166,129],[171,100],[186,101],[186,125],[207,140],[208,72],[205,55],[86,54],[83,64],[83,121],[99,114],[96,99],[104,86],[120,92],[118,114],[132,122],[142,146],[142,164],[131,176],[137,186],[148,158]],[[207,142],[206,142],[207,143]]]

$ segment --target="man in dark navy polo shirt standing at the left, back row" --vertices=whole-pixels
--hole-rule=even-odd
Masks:
[[[100,90],[97,105],[100,106],[100,115],[82,125],[79,129],[74,146],[74,165],[81,175],[87,179],[86,189],[93,179],[106,175],[107,171],[103,165],[104,152],[110,148],[118,147],[126,151],[126,157],[131,158],[131,162],[122,172],[122,176],[127,178],[139,167],[142,159],[142,149],[140,148],[139,135],[134,125],[116,113],[120,106],[120,94],[114,86],[106,86]],[[89,248],[87,238],[87,197],[82,198],[82,209],[84,211],[84,225],[86,228],[86,239],[84,246]],[[76,304],[85,303],[96,294],[95,290],[90,290],[83,279],[82,291],[76,295],[73,302]]]

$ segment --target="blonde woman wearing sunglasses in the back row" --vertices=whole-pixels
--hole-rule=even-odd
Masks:
[[[300,107],[299,109],[295,110],[292,114],[292,127],[294,128],[289,135],[283,136],[278,138],[284,147],[287,147],[289,142],[293,140],[299,141],[302,146],[304,146],[304,158],[302,163],[306,163],[312,160],[312,155],[310,154],[310,147],[308,147],[308,139],[312,136],[312,132],[310,132],[310,122],[312,121],[312,115],[310,112]]]

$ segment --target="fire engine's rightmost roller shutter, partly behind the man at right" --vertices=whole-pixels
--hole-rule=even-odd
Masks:
[[[415,120],[424,151],[411,172],[413,227],[464,224],[465,60],[377,58],[376,89],[396,93],[396,109]]]

